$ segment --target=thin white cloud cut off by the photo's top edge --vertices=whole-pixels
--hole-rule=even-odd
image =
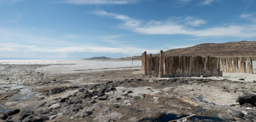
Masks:
[[[64,0],[62,2],[74,5],[126,5],[137,3],[138,0]]]

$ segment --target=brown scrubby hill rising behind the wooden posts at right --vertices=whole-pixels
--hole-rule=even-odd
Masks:
[[[256,41],[239,41],[230,43],[206,43],[188,48],[171,49],[164,52],[166,56],[220,56],[256,57]]]

